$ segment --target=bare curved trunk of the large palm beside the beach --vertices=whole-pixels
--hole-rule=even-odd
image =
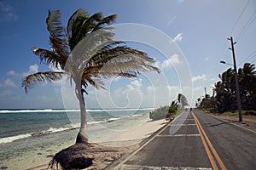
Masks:
[[[84,95],[81,88],[76,88],[77,98],[80,107],[80,129],[76,139],[76,144],[88,144],[87,119],[84,103]]]

